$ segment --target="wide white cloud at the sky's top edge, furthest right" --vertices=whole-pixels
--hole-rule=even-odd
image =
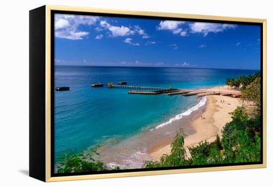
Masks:
[[[189,27],[192,33],[202,33],[206,36],[209,32],[218,33],[227,29],[235,29],[237,25],[234,24],[219,24],[219,23],[190,23]]]

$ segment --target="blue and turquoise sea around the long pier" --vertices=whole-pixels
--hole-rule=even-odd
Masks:
[[[84,151],[109,138],[123,140],[168,121],[197,102],[197,96],[128,94],[127,89],[90,84],[126,81],[128,85],[195,89],[225,85],[227,78],[255,70],[55,66],[55,161],[68,150]],[[163,118],[162,114],[167,117]]]

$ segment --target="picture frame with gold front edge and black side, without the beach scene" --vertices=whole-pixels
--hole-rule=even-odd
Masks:
[[[223,171],[238,169],[254,169],[266,167],[266,19],[209,16],[165,12],[144,12],[114,10],[103,8],[69,7],[44,5],[30,10],[29,16],[29,76],[30,76],[30,114],[29,114],[29,176],[43,182],[103,179],[117,177],[148,176],[162,174],[178,174],[207,171]],[[136,168],[99,172],[81,172],[56,174],[54,162],[54,95],[60,89],[69,88],[55,85],[56,44],[55,14],[73,14],[84,16],[110,16],[126,19],[151,19],[208,22],[215,24],[243,24],[260,27],[260,71],[261,71],[261,160],[259,162],[229,163],[218,165],[193,165],[187,167]],[[56,27],[56,26],[55,26]],[[159,29],[158,29],[159,30]],[[139,31],[139,30],[138,30]],[[136,32],[136,31],[134,31]],[[214,32],[214,31],[213,31]],[[204,33],[203,33],[204,34]],[[205,36],[206,34],[204,34]],[[144,36],[144,35],[141,35]],[[78,38],[81,40],[81,38]],[[131,39],[131,38],[130,38]],[[126,43],[126,40],[123,41]],[[135,45],[132,39],[127,44]],[[239,42],[237,43],[238,45]],[[203,44],[202,44],[203,45]],[[204,45],[205,46],[205,45]],[[112,85],[108,85],[108,87]],[[169,89],[172,89],[171,87]],[[58,90],[58,91],[57,91]],[[221,100],[222,102],[222,100]],[[162,116],[165,116],[163,113]],[[201,117],[202,118],[202,117]],[[191,119],[192,120],[192,119]]]

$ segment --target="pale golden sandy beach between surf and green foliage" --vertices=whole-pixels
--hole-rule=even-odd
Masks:
[[[200,90],[239,93],[239,91],[228,89],[227,86]],[[238,98],[229,96],[207,95],[206,98],[205,111],[201,111],[199,114],[200,116],[195,118],[190,124],[195,129],[196,133],[185,138],[185,147],[197,145],[200,141],[205,140],[212,142],[215,140],[216,135],[221,137],[221,130],[224,125],[231,121],[229,112],[232,112],[237,106],[242,104]],[[154,160],[159,160],[163,154],[169,154],[170,150],[170,141],[162,140],[150,146],[147,152]]]

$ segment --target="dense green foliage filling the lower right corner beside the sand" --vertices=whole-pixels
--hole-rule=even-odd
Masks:
[[[191,157],[187,158],[180,130],[171,144],[171,153],[163,155],[160,161],[145,161],[145,168],[260,161],[260,115],[250,118],[243,107],[237,107],[231,115],[232,121],[225,125],[221,140],[217,136],[211,143],[202,141],[195,147],[188,147]]]

